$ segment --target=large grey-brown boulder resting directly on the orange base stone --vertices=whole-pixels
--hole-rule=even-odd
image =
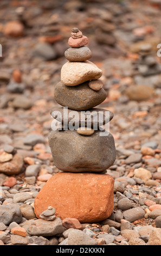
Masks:
[[[48,140],[54,164],[64,172],[102,172],[115,161],[114,138],[105,130],[91,136],[55,130]]]

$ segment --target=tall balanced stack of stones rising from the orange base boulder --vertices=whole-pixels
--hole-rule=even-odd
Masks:
[[[56,173],[35,198],[35,214],[52,206],[61,220],[77,218],[81,223],[105,220],[113,211],[113,178],[106,169],[115,161],[114,138],[100,127],[109,124],[113,113],[94,108],[106,99],[102,71],[89,58],[88,38],[72,29],[68,62],[62,66],[61,82],[54,97],[62,107],[51,110],[59,125],[49,133]],[[74,117],[74,118],[73,118]]]

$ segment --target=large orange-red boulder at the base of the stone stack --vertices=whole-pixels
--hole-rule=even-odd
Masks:
[[[108,174],[56,173],[46,182],[34,202],[35,214],[49,205],[61,220],[76,218],[80,223],[95,223],[113,211],[114,179]]]

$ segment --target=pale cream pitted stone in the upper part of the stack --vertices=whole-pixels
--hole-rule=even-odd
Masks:
[[[65,86],[78,86],[89,80],[96,80],[102,75],[102,70],[94,63],[86,60],[85,62],[67,62],[61,68],[61,82]]]

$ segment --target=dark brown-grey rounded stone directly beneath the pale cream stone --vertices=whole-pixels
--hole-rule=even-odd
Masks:
[[[83,111],[99,105],[106,99],[106,92],[102,88],[94,91],[88,86],[88,82],[79,86],[65,86],[62,82],[56,84],[54,99],[61,106],[68,107],[76,111]]]

